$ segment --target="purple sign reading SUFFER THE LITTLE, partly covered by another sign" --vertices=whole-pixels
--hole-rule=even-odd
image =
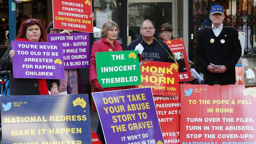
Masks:
[[[62,42],[65,69],[89,67],[89,33],[56,33],[47,38],[48,42]]]

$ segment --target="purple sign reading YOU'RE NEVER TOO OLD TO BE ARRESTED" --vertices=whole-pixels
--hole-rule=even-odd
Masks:
[[[13,78],[64,79],[63,48],[57,42],[12,41]]]

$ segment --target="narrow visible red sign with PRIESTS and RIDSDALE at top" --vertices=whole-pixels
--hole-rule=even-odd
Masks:
[[[183,39],[173,39],[169,41],[164,41],[170,48],[174,55],[174,59],[179,64],[179,82],[191,81],[191,73],[189,68],[189,63],[187,60],[187,53],[185,49],[185,44]]]

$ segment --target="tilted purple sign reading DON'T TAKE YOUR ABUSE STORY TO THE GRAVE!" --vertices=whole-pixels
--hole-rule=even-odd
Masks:
[[[163,144],[151,88],[92,95],[107,144]]]

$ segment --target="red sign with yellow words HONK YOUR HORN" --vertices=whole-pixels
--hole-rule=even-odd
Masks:
[[[142,61],[141,87],[151,87],[153,95],[178,96],[178,66],[175,63]]]

